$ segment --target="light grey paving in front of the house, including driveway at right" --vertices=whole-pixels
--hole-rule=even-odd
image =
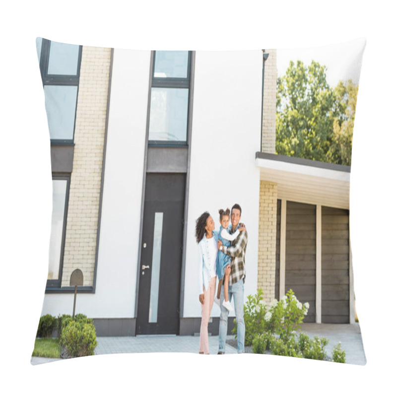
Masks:
[[[333,346],[339,341],[346,352],[347,364],[365,365],[366,358],[358,324],[304,324],[301,329],[310,337],[326,336],[330,339],[326,347],[327,354],[331,356]],[[229,337],[228,337],[229,339]],[[234,337],[231,337],[234,340]],[[121,336],[121,337],[97,337],[98,345],[95,354],[117,353],[198,353],[199,336]],[[251,349],[246,348],[246,352]],[[218,336],[209,336],[210,354],[218,352]],[[237,349],[226,343],[225,354],[236,354]],[[59,359],[32,357],[31,364],[42,364]]]

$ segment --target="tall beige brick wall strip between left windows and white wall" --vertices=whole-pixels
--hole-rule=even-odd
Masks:
[[[83,47],[62,286],[79,268],[93,285],[111,49]]]

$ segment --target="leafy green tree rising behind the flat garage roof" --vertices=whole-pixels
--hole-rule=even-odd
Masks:
[[[277,78],[277,154],[350,164],[358,87],[341,81],[332,89],[326,71],[315,61],[291,61]]]

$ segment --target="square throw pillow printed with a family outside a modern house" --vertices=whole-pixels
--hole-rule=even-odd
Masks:
[[[365,364],[349,231],[363,40],[250,51],[137,51],[43,38],[36,46],[53,185],[40,338],[59,336],[63,358],[198,353],[206,340],[216,354],[226,330],[227,354],[244,340],[246,352],[333,361],[345,354],[347,363]],[[212,305],[218,279],[202,315],[200,286],[214,272],[203,272],[198,258],[206,232],[197,221],[208,211],[220,232],[219,209],[233,214],[235,203],[247,227],[240,236],[249,237],[225,249],[237,258],[233,247],[242,248],[244,259],[230,261],[233,269],[244,263],[231,276],[244,289],[229,288],[224,320]],[[215,248],[205,250],[215,258]],[[233,323],[243,304],[245,338]],[[286,329],[286,309],[303,320],[301,330]],[[80,348],[72,331],[87,337]],[[315,336],[329,339],[320,355],[315,344],[325,342]],[[37,354],[32,363],[42,361]]]

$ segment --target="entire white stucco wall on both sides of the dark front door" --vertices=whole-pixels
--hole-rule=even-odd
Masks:
[[[76,302],[76,313],[92,318],[135,315],[149,73],[149,51],[114,51],[96,291]],[[218,209],[241,205],[249,236],[245,296],[256,292],[261,95],[261,50],[196,53],[185,318],[201,315],[195,225],[206,210],[218,229]],[[46,294],[42,313],[70,313],[72,305],[73,294]],[[217,306],[212,316],[219,316]]]

